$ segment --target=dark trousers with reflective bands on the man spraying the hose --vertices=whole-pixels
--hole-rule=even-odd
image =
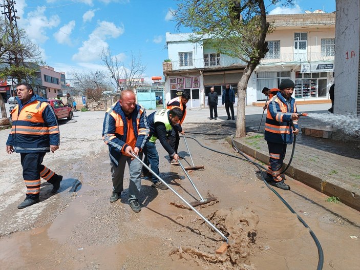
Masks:
[[[280,182],[283,178],[280,175],[281,168],[283,167],[283,162],[286,154],[286,144],[285,143],[275,143],[267,142],[269,149],[269,170],[267,175],[272,177],[274,181]]]

